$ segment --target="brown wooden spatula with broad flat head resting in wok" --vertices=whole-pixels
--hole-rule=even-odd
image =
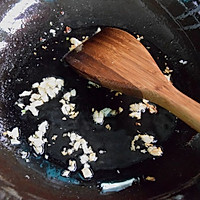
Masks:
[[[146,48],[131,34],[104,28],[66,61],[85,78],[169,110],[200,132],[200,104],[178,91]]]

